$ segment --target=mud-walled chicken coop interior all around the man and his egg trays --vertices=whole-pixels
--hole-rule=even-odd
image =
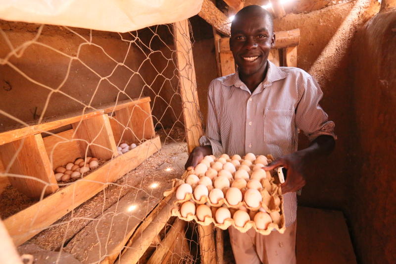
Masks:
[[[252,4],[274,17],[269,60],[312,75],[336,124],[298,196],[297,264],[395,262],[396,0],[56,2],[0,4],[1,263],[235,263],[227,230],[167,194]]]

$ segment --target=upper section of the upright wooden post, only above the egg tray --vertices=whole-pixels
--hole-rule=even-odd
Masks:
[[[191,152],[199,145],[198,139],[202,135],[202,123],[199,115],[197,81],[188,20],[174,24],[174,36],[187,148]]]

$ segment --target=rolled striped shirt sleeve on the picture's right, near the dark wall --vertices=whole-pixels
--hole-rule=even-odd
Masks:
[[[329,121],[327,113],[319,106],[323,92],[312,76],[308,76],[302,89],[303,94],[297,105],[296,126],[301,129],[310,141],[320,135],[329,135],[334,139],[334,122]]]

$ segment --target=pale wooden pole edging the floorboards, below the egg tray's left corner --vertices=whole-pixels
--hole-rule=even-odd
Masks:
[[[153,221],[150,222],[142,231],[141,235],[134,239],[132,244],[119,259],[118,264],[136,264],[139,261],[143,253],[151,244],[151,241],[157,236],[169,220],[172,215],[171,208],[175,201],[176,197],[172,196],[169,203],[167,203],[162,210],[158,212]]]

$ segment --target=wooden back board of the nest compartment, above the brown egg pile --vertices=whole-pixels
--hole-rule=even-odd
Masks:
[[[53,168],[83,157],[77,141],[73,140],[73,129],[43,138],[49,162]],[[84,153],[85,154],[85,153]],[[90,156],[91,153],[88,154]]]

